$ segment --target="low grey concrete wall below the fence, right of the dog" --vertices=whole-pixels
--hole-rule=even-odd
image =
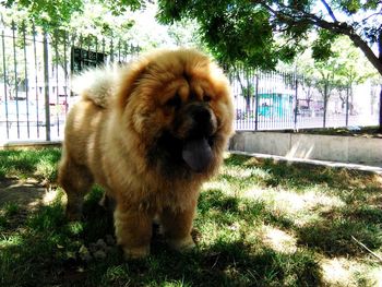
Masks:
[[[280,132],[237,132],[230,142],[230,150],[287,158],[382,167],[382,139]]]

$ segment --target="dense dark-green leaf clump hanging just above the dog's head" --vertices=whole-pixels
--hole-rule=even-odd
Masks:
[[[276,64],[278,58],[274,52],[270,14],[261,7],[240,0],[218,0],[214,5],[202,0],[162,0],[158,3],[157,17],[162,23],[195,19],[202,39],[219,61],[244,61],[263,69]]]

